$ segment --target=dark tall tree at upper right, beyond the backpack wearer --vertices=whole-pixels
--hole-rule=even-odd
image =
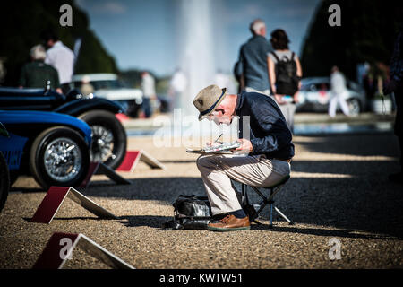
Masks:
[[[340,7],[341,26],[328,22],[331,4]],[[350,79],[356,79],[359,63],[388,65],[399,25],[394,17],[396,5],[387,0],[322,1],[304,39],[304,76],[329,75],[331,66],[338,65]]]

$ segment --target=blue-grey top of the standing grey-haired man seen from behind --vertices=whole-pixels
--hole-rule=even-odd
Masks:
[[[267,55],[272,51],[269,41],[254,35],[239,51],[236,74],[244,74],[244,85],[257,91],[270,89]]]

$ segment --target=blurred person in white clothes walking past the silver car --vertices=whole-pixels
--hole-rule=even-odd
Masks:
[[[347,117],[349,116],[349,109],[345,99],[347,92],[346,79],[344,75],[339,72],[339,68],[335,65],[331,68],[330,74],[330,102],[328,110],[330,117],[336,117],[338,103],[343,114]]]

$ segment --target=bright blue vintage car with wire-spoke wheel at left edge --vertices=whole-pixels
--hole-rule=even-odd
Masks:
[[[45,189],[77,187],[90,167],[91,129],[84,121],[54,112],[0,110],[9,136],[0,136],[0,151],[11,184],[32,175]]]

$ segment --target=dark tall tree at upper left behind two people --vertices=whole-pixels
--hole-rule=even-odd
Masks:
[[[62,27],[60,6],[70,4],[73,8],[73,26]],[[73,0],[42,0],[7,2],[0,9],[0,58],[7,70],[4,85],[15,86],[21,66],[30,60],[30,48],[42,43],[43,30],[55,30],[64,45],[73,50],[76,39],[81,38],[81,51],[75,73],[117,73],[116,62],[89,28],[86,13]]]

